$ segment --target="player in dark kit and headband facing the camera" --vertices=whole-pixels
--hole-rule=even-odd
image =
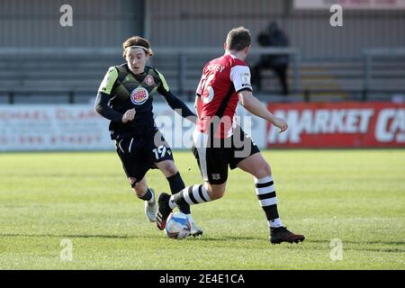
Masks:
[[[153,55],[148,40],[139,36],[122,43],[125,64],[110,67],[103,78],[95,99],[94,109],[110,120],[111,138],[121,159],[134,193],[145,201],[148,220],[156,221],[157,202],[152,188],[148,187],[146,174],[158,168],[166,176],[171,193],[182,191],[183,179],[175,166],[170,147],[157,130],[153,118],[153,96],[161,94],[168,105],[190,121],[195,115],[169,89],[165,77],[156,68],[146,66]],[[202,234],[190,212],[190,205],[179,207],[192,223],[193,236]]]

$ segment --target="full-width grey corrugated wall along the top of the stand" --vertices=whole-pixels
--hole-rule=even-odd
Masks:
[[[404,10],[344,11],[344,27],[330,13],[294,10],[292,0],[2,0],[0,47],[117,47],[146,34],[154,46],[218,47],[227,31],[246,26],[254,36],[277,21],[303,58],[356,58],[364,47],[405,45]],[[58,25],[62,4],[74,27]]]

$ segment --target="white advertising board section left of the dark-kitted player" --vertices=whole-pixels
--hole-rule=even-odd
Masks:
[[[0,105],[0,150],[112,149],[92,105]]]

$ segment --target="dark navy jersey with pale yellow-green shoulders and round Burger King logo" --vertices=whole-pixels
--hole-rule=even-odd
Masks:
[[[182,116],[193,115],[166,83],[165,77],[154,67],[145,67],[143,73],[134,75],[127,64],[110,67],[98,89],[95,110],[111,120],[112,139],[139,137],[156,131],[153,118],[153,97],[161,94],[172,109],[182,109]],[[122,115],[135,108],[132,121],[122,122]]]

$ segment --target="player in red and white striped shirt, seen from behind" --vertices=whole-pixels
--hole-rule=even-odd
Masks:
[[[202,70],[196,91],[198,121],[193,131],[193,154],[205,184],[185,187],[181,193],[161,193],[158,198],[157,227],[164,229],[170,211],[178,205],[217,200],[225,193],[228,166],[254,176],[257,199],[266,213],[270,242],[298,243],[304,240],[284,227],[277,211],[275,183],[270,166],[257,145],[234,121],[238,103],[248,112],[266,119],[280,132],[288,129],[286,121],[268,112],[252,94],[250,70],[245,58],[250,49],[250,32],[244,27],[229,31],[225,54],[211,60]]]

